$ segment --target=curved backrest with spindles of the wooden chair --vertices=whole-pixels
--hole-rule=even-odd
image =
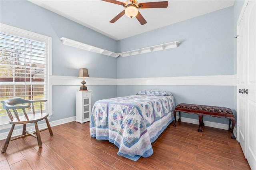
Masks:
[[[33,111],[33,114],[35,114],[34,103],[40,103],[40,111],[42,114],[43,113],[42,102],[46,102],[46,101],[47,100],[26,100],[26,99],[21,99],[21,98],[12,98],[12,99],[2,100],[1,103],[3,104],[3,109],[6,110],[6,113],[9,117],[10,121],[13,121],[12,113],[16,117],[16,119],[18,121],[20,121],[17,109],[22,109],[24,116],[29,121],[28,115],[26,113],[26,108],[31,107],[31,105],[24,105],[24,104],[32,103],[32,111]],[[22,105],[20,105],[20,104],[22,104]]]

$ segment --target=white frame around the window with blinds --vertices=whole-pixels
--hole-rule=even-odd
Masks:
[[[42,34],[38,34],[35,32],[30,32],[28,30],[23,30],[20,28],[16,28],[13,26],[9,26],[6,24],[0,23],[0,31],[5,32],[8,34],[16,35],[16,36],[21,36],[21,37],[26,37],[30,38],[32,40],[37,40],[40,42],[46,43],[46,99],[48,102],[46,102],[46,109],[45,112],[49,113],[49,116],[52,115],[52,90],[50,86],[50,75],[52,75],[52,38],[48,36],[44,36]],[[50,117],[49,117],[50,118]],[[49,119],[48,118],[48,119]],[[1,116],[0,117],[0,130],[8,128],[9,126],[6,127],[6,125],[9,125],[9,117],[6,116]]]

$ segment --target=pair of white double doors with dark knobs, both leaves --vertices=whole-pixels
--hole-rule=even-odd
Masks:
[[[237,28],[237,126],[244,156],[256,169],[256,1],[247,2]]]

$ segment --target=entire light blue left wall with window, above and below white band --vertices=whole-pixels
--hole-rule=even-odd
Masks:
[[[0,22],[52,38],[52,75],[77,76],[79,68],[88,68],[90,77],[116,78],[117,59],[63,45],[61,37],[117,51],[117,42],[94,30],[31,2],[0,1]],[[107,67],[106,67],[107,66]],[[78,86],[53,86],[50,121],[76,115],[76,90]],[[92,90],[92,105],[96,100],[117,96],[117,86],[88,86]],[[1,130],[2,132],[2,130]]]

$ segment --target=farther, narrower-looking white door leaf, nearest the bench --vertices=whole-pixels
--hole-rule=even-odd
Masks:
[[[238,23],[237,27],[238,39],[237,39],[237,77],[238,84],[237,90],[237,109],[238,114],[238,141],[240,142],[241,148],[246,156],[246,95],[241,90],[246,87],[246,12],[244,11],[242,19]]]

